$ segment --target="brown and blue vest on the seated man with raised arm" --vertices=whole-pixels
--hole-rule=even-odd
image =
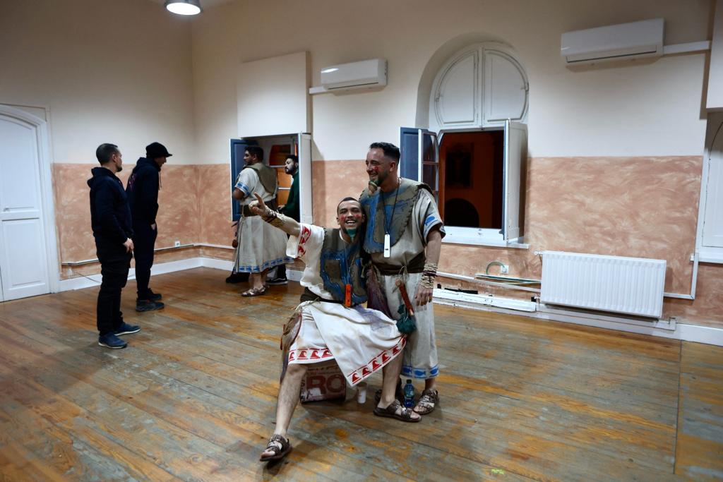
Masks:
[[[351,285],[351,305],[367,301],[367,285],[361,277],[360,243],[346,244],[338,229],[324,228],[319,271],[324,289],[343,303],[346,285]]]

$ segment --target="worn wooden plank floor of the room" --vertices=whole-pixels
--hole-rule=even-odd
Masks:
[[[446,306],[435,413],[377,418],[350,390],[299,405],[294,451],[261,464],[300,290],[225,277],[153,277],[166,309],[143,314],[129,283],[125,350],[98,346],[97,288],[0,304],[2,479],[723,480],[723,348]]]

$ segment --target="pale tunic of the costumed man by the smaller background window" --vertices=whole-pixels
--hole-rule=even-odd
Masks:
[[[236,189],[246,195],[241,200],[242,206],[256,200],[254,192],[257,192],[264,201],[276,198],[275,192],[264,189],[259,181],[259,175],[251,168],[241,169],[236,179]],[[265,223],[260,216],[247,217],[241,213],[238,240],[239,246],[236,248],[236,259],[234,259],[236,272],[262,272],[291,261],[283,256],[286,234]]]

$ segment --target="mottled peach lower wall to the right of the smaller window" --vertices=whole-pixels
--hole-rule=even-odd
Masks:
[[[534,251],[545,249],[647,257],[666,259],[665,291],[690,293],[702,162],[700,156],[531,158],[524,227],[530,248],[442,244],[440,271],[474,276],[497,260],[512,276],[539,279],[542,262]],[[314,220],[323,225],[335,222],[337,199],[356,196],[366,184],[361,160],[315,162],[313,176]],[[464,287],[529,299],[523,291]],[[723,327],[719,293],[723,266],[701,264],[696,300],[665,298],[664,317]]]

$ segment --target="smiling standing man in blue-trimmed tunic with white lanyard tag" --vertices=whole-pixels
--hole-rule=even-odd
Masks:
[[[436,377],[439,374],[432,291],[445,235],[435,198],[426,184],[403,179],[397,174],[399,148],[375,142],[367,153],[369,188],[361,193],[367,215],[364,251],[378,270],[382,292],[391,314],[403,304],[397,280],[414,293],[416,330],[408,337],[402,374],[424,379],[424,391],[414,411],[431,413],[439,402]]]

